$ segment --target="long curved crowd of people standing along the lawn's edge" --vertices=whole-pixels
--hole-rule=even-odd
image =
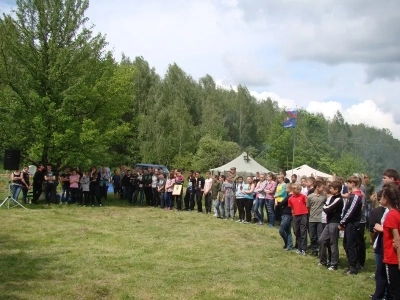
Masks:
[[[365,229],[374,245],[376,289],[372,299],[400,299],[400,176],[396,170],[383,173],[383,187],[376,193],[368,175],[355,174],[343,180],[320,177],[289,180],[285,172],[243,178],[235,168],[225,175],[190,171],[185,179],[179,169],[134,169],[121,166],[93,167],[90,172],[66,169],[60,175],[52,167],[39,165],[29,183],[28,168],[11,174],[13,198],[32,186],[32,203],[44,192],[45,203],[77,203],[102,206],[108,185],[114,195],[134,205],[160,207],[167,211],[195,211],[213,214],[238,223],[279,226],[283,249],[302,256],[313,255],[329,271],[339,267],[339,236],[348,260],[346,274],[356,275],[366,261]],[[187,183],[184,191],[184,183]],[[61,194],[57,196],[57,186]],[[266,214],[264,214],[264,212]],[[293,233],[292,233],[293,232]],[[310,243],[308,243],[308,238]]]

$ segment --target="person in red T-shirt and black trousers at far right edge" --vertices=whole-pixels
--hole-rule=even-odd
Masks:
[[[389,212],[383,226],[376,224],[375,230],[383,229],[383,262],[386,265],[388,281],[386,299],[400,299],[400,248],[395,247],[395,239],[399,238],[400,232],[399,199],[400,187],[397,182],[383,186],[380,203],[388,208]]]

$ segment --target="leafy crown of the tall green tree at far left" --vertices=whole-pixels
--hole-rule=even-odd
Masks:
[[[128,103],[133,71],[119,69],[86,26],[88,5],[17,0],[0,18],[1,107],[21,120],[15,145],[44,163],[103,163],[130,129],[115,108]]]

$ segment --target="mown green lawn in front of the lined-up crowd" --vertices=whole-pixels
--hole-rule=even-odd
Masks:
[[[277,228],[148,207],[0,209],[1,299],[367,299],[358,276],[282,250]]]

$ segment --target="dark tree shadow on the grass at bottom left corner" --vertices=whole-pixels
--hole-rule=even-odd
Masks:
[[[25,251],[27,245],[32,249],[32,241],[0,233],[1,299],[27,299],[18,296],[21,292],[35,297],[35,282],[49,279],[46,268],[52,259]]]

